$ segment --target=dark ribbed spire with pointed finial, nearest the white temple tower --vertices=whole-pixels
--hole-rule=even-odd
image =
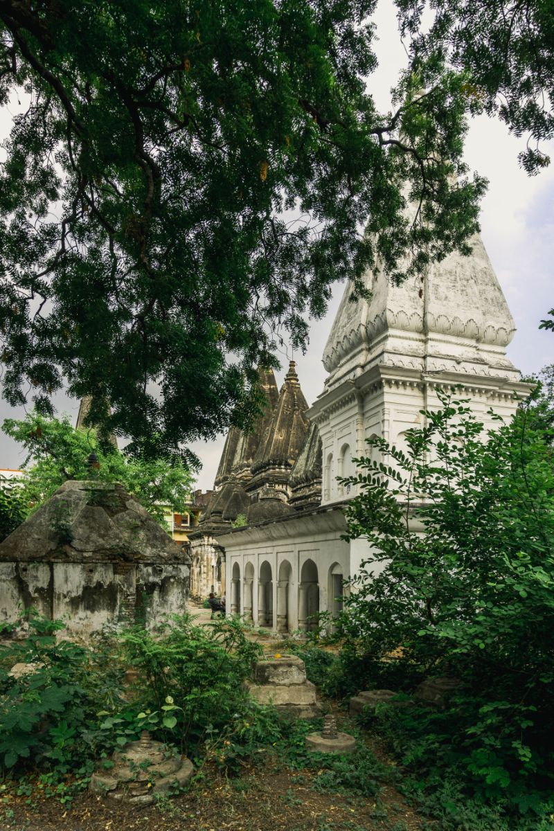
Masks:
[[[277,466],[292,468],[306,440],[309,420],[306,399],[298,381],[296,363],[289,364],[272,418],[252,461],[252,475]]]

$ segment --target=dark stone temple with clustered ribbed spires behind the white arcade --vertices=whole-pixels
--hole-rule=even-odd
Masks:
[[[306,416],[308,405],[290,362],[280,391],[272,370],[259,371],[266,404],[250,433],[228,432],[213,496],[191,543],[190,592],[224,592],[223,552],[218,535],[256,525],[321,502],[321,440]]]

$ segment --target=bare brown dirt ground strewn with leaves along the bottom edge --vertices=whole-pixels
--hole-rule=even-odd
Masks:
[[[293,771],[277,760],[236,779],[214,771],[189,793],[146,809],[105,804],[91,794],[66,809],[56,799],[12,796],[0,809],[2,831],[424,831],[429,828],[385,785],[370,799],[317,788],[322,771]],[[26,804],[26,800],[31,804]]]

